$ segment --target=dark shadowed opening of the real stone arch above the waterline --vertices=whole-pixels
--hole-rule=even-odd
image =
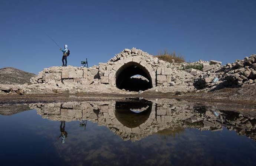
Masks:
[[[131,78],[141,75],[147,80]],[[143,66],[135,62],[126,63],[116,73],[116,87],[129,91],[144,91],[152,87],[152,80],[149,72]]]

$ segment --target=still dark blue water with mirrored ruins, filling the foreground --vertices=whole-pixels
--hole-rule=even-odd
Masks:
[[[147,100],[0,108],[1,166],[256,163],[256,114]]]

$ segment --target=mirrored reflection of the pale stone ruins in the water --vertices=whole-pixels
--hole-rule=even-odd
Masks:
[[[43,118],[58,121],[89,120],[104,125],[123,140],[137,141],[155,132],[184,128],[218,131],[222,127],[256,141],[255,114],[212,110],[210,107],[157,104],[147,100],[86,101],[31,104]]]

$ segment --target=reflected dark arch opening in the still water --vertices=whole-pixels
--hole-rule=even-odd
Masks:
[[[141,109],[140,113],[132,110]],[[148,120],[152,111],[152,102],[140,101],[117,101],[115,104],[115,116],[120,123],[128,128],[135,128]]]

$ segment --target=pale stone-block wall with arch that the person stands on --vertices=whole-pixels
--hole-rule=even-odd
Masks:
[[[140,49],[124,49],[107,63],[91,68],[82,67],[51,67],[46,68],[39,75],[32,77],[32,84],[91,84],[93,82],[115,86],[116,75],[127,63],[140,66],[148,75],[152,87],[161,86],[172,81],[170,63],[159,60]]]

